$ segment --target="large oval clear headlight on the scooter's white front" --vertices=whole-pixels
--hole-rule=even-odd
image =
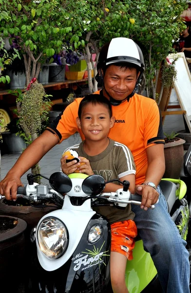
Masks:
[[[46,218],[38,226],[37,239],[44,255],[49,259],[56,259],[68,247],[68,230],[57,218]]]

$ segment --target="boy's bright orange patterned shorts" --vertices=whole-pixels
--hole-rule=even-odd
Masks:
[[[111,251],[124,254],[128,260],[133,259],[134,238],[137,229],[134,221],[127,220],[111,225],[112,245]]]

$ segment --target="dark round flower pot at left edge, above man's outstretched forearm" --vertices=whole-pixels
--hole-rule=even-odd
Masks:
[[[6,153],[9,154],[21,154],[23,149],[26,148],[26,144],[23,139],[15,133],[11,133],[10,131],[4,131],[1,133],[3,149],[6,150]]]

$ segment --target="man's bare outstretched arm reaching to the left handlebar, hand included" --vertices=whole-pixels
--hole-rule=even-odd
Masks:
[[[7,200],[17,198],[17,188],[22,186],[20,177],[55,145],[58,140],[50,131],[45,130],[24,152],[20,155],[15,165],[10,169],[5,178],[0,182],[0,194]]]

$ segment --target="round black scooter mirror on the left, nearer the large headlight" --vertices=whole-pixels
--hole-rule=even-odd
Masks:
[[[55,172],[50,176],[50,186],[60,193],[67,193],[72,189],[71,179],[62,172]]]

